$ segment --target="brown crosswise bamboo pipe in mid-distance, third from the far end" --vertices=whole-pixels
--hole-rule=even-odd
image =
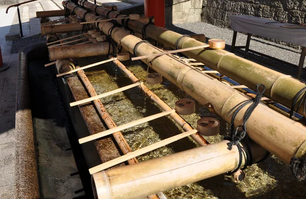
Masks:
[[[50,61],[76,57],[89,57],[108,54],[110,44],[107,42],[68,45],[48,48]],[[111,47],[110,53],[113,53]]]

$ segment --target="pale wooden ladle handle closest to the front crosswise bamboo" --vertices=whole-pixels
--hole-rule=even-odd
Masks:
[[[93,174],[93,173],[99,172],[101,170],[105,170],[105,169],[107,169],[111,166],[117,165],[117,164],[122,163],[126,160],[129,160],[131,158],[135,158],[137,156],[140,156],[142,154],[145,154],[145,153],[148,153],[150,151],[156,150],[157,148],[160,148],[162,146],[165,146],[167,144],[170,144],[170,143],[175,142],[177,140],[180,140],[182,138],[185,138],[189,135],[195,134],[196,132],[197,132],[197,130],[191,130],[191,131],[181,133],[179,135],[172,136],[170,138],[164,139],[164,140],[159,141],[157,143],[154,143],[154,144],[151,144],[149,146],[143,147],[140,150],[130,152],[130,153],[128,153],[124,156],[121,156],[119,158],[116,158],[116,159],[113,159],[113,160],[108,161],[106,163],[103,163],[103,164],[100,164],[98,166],[92,167],[92,168],[89,169],[89,172],[90,172],[90,174]]]

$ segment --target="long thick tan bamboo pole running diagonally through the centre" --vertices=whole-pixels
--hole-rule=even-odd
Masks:
[[[77,13],[83,11],[83,9],[72,3],[66,2],[65,5],[69,10]],[[87,13],[85,20],[89,21],[91,17],[93,15]],[[99,22],[96,25],[106,34],[113,27],[113,24],[110,22]],[[115,42],[118,43],[120,41],[121,45],[131,53],[133,53],[134,46],[141,41],[141,39],[126,33],[118,27],[113,29],[111,36]],[[162,52],[160,49],[147,43],[142,43],[137,48],[139,56],[160,52]],[[146,58],[142,61],[150,64],[153,69],[194,97],[199,103],[203,105],[210,103],[216,113],[228,123],[231,122],[232,116],[227,116],[230,110],[247,99],[235,89],[224,86],[218,80],[201,73],[199,70],[190,67],[173,56],[163,55]],[[243,114],[247,107],[245,106],[237,114],[235,118],[236,127],[241,125]],[[298,150],[305,154],[306,150],[303,151],[303,149],[306,146],[302,146],[302,144],[306,142],[306,128],[262,104],[257,106],[248,119],[247,131],[251,139],[282,159],[285,163],[289,163]]]

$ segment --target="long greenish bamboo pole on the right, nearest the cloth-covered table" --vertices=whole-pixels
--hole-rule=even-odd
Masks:
[[[81,2],[81,0],[79,0],[79,2]],[[86,1],[83,5],[85,8],[90,9],[94,4]],[[105,16],[109,11],[110,10],[105,8],[99,8],[96,10],[96,13]],[[117,14],[117,12],[111,11],[109,17],[115,17]],[[125,17],[125,15],[122,14],[118,17]],[[117,22],[124,25],[122,21]],[[138,20],[129,20],[128,22],[129,28],[139,33],[142,32],[142,28],[145,25],[146,23]],[[182,36],[179,33],[152,24],[147,26],[146,35],[172,48],[175,48],[175,42]],[[195,39],[184,37],[179,43],[179,48],[194,47],[203,44],[204,43]],[[287,76],[281,72],[277,72],[260,64],[238,57],[233,53],[224,51],[223,49],[210,49],[206,51],[198,49],[195,51],[184,52],[183,54],[205,63],[214,70],[219,71],[223,75],[246,85],[253,90],[256,90],[257,84],[264,84],[266,86],[266,91],[264,93],[265,96],[290,109],[295,94],[305,87],[304,83],[292,78],[291,76]],[[301,97],[299,97],[296,102],[294,110],[297,109],[300,101]],[[306,116],[306,113],[303,113],[302,106],[298,110],[298,113]]]

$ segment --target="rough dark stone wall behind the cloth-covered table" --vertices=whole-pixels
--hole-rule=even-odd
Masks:
[[[230,28],[228,15],[252,15],[290,23],[306,23],[303,0],[203,0],[201,21]]]

